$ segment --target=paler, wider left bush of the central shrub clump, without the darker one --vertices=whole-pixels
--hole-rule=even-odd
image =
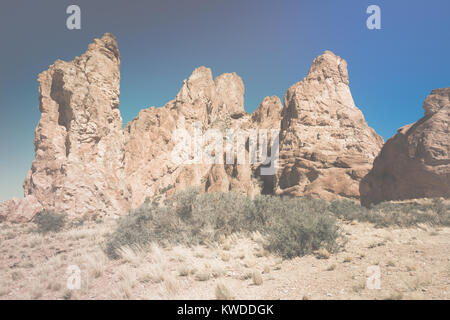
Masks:
[[[120,219],[107,239],[105,251],[118,258],[117,250],[125,245],[161,245],[182,243],[196,245],[216,240],[245,229],[246,212],[252,201],[236,193],[204,193],[187,189],[175,193],[166,206],[148,202]]]

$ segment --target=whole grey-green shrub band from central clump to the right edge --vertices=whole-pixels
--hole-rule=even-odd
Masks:
[[[145,246],[151,242],[162,246],[214,246],[226,236],[246,232],[261,244],[257,257],[267,254],[267,250],[293,258],[319,249],[329,254],[338,251],[345,239],[336,218],[370,222],[377,227],[450,225],[449,212],[439,199],[428,204],[381,203],[368,209],[350,200],[327,203],[308,197],[266,195],[251,200],[234,192],[200,193],[196,188],[188,188],[176,192],[163,206],[146,202],[123,217],[105,249],[110,258],[119,258],[118,250],[123,246]],[[229,251],[232,244],[223,242],[221,247]],[[325,258],[320,254],[319,257]]]

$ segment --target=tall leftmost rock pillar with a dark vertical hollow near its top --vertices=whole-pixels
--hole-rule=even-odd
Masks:
[[[114,214],[129,207],[119,112],[120,55],[105,34],[71,62],[39,75],[36,158],[24,182],[46,209]]]

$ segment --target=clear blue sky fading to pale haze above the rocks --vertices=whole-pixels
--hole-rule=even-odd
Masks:
[[[66,8],[81,8],[81,30]],[[381,8],[381,30],[366,9]],[[423,115],[424,98],[450,86],[448,0],[39,0],[0,4],[0,201],[22,196],[39,121],[37,76],[113,33],[121,63],[124,122],[162,106],[198,66],[236,72],[245,109],[283,97],[312,60],[331,50],[348,62],[356,105],[388,139]]]

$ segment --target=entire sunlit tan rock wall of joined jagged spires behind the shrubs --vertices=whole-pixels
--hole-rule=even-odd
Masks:
[[[210,69],[199,67],[172,101],[140,111],[123,130],[119,67],[116,40],[105,34],[81,57],[56,61],[39,75],[42,114],[24,189],[43,208],[70,215],[122,214],[188,186],[250,196],[356,199],[359,181],[382,144],[353,102],[346,62],[331,52],[316,58],[308,76],[286,92],[284,108],[278,97],[266,97],[248,114],[239,76],[213,78]],[[255,156],[252,132],[262,129],[269,142],[278,136],[271,129],[281,129],[279,168],[271,175],[262,174],[266,159],[277,154],[270,146],[266,157],[248,160]],[[180,144],[176,132],[194,139]],[[198,132],[219,135],[199,138],[201,152],[211,147],[210,156],[219,161],[195,161]],[[243,153],[230,149],[234,139],[244,141]],[[188,162],[174,160],[180,146],[186,147],[182,154],[193,152]],[[239,162],[242,154],[246,161]]]

